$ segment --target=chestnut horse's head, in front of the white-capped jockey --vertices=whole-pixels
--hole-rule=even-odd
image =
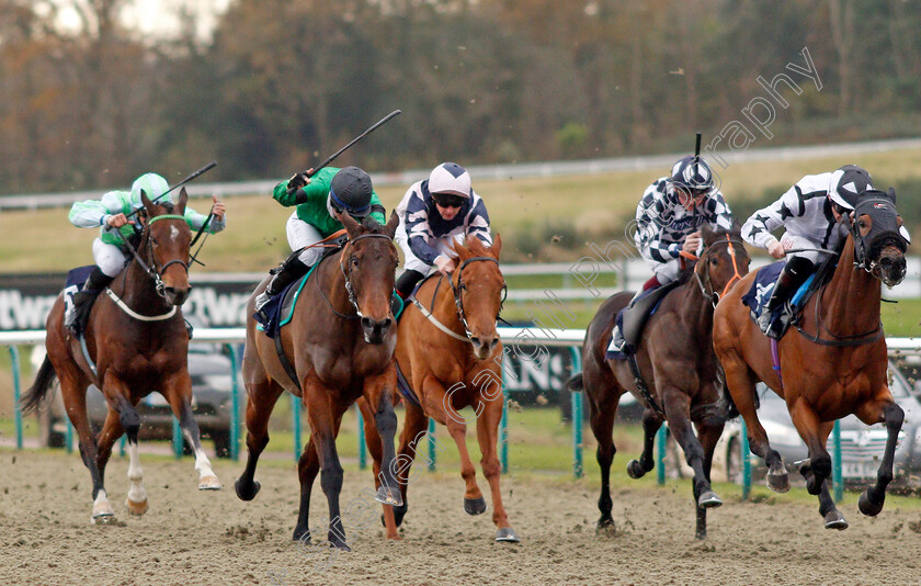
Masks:
[[[454,247],[458,261],[451,275],[454,303],[467,337],[474,345],[474,353],[480,360],[489,358],[499,345],[496,319],[508,291],[505,278],[499,269],[501,249],[502,238],[498,234],[491,247],[477,237]]]

